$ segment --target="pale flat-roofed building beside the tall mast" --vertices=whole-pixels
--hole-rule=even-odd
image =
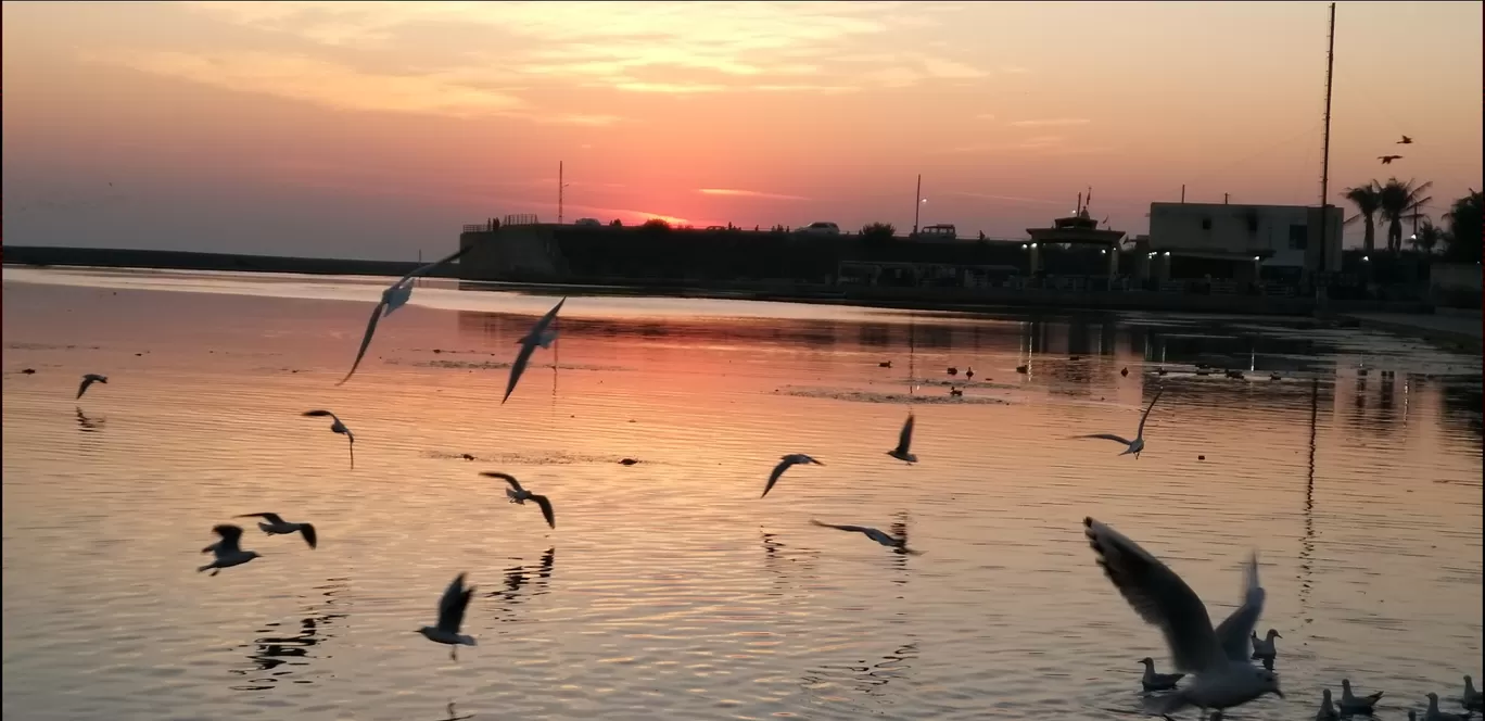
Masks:
[[[1339,207],[1326,219],[1329,244],[1326,269],[1341,269]],[[1320,208],[1304,205],[1225,205],[1203,202],[1149,204],[1149,250],[1206,250],[1213,253],[1264,254],[1264,265],[1314,268],[1319,265]],[[1293,230],[1292,230],[1293,229]],[[1290,233],[1299,233],[1293,242]]]

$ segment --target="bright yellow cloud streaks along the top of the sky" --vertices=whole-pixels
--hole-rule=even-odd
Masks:
[[[947,3],[374,3],[192,1],[224,22],[297,36],[334,49],[377,52],[431,24],[489,28],[469,70],[499,67],[578,86],[627,92],[842,92],[860,83],[907,86],[971,80],[989,73],[925,54],[878,54],[860,67],[845,55],[912,19],[933,27]],[[860,58],[857,58],[860,62]],[[446,68],[456,70],[456,68]],[[800,79],[811,79],[800,82]],[[824,82],[820,82],[824,80]]]

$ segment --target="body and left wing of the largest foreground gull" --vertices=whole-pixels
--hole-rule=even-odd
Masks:
[[[1093,519],[1083,519],[1083,525],[1105,575],[1145,623],[1160,627],[1176,670],[1194,676],[1185,688],[1157,700],[1157,714],[1197,706],[1204,715],[1209,708],[1240,706],[1265,693],[1283,699],[1273,672],[1228,656],[1201,599],[1179,575],[1118,531]]]

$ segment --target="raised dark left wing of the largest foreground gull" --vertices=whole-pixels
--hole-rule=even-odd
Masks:
[[[1200,673],[1227,663],[1206,607],[1179,575],[1118,531],[1093,519],[1083,525],[1114,587],[1145,623],[1164,633],[1176,670]]]

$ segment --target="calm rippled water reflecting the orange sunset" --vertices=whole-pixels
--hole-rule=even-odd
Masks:
[[[502,406],[554,299],[420,287],[336,387],[385,284],[4,269],[6,720],[1127,718],[1138,660],[1169,654],[1084,516],[1218,617],[1259,552],[1289,700],[1240,718],[1313,718],[1342,676],[1399,718],[1482,676],[1478,355],[1252,318],[573,297]],[[962,398],[947,366],[976,370]],[[110,382],[74,401],[89,372]],[[1065,440],[1132,434],[1157,382],[1138,461]],[[913,467],[885,456],[909,407]],[[759,499],[789,452],[827,465]],[[557,529],[480,470],[549,495]],[[254,511],[319,549],[252,529],[264,557],[198,574]],[[480,645],[456,663],[414,629],[460,571]]]

